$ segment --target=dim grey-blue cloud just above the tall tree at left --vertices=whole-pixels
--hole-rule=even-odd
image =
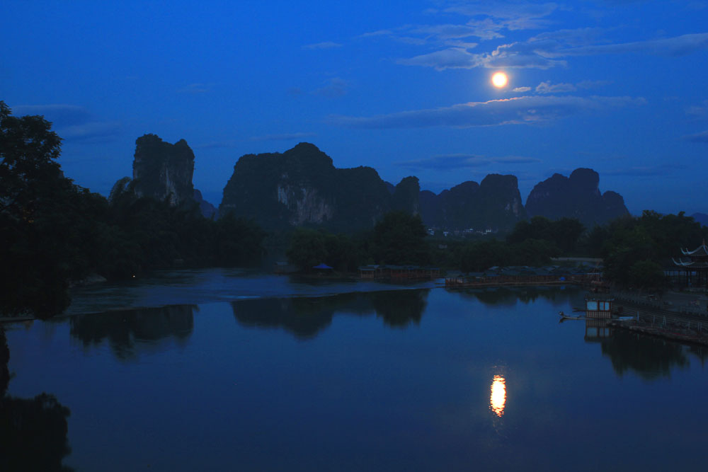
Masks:
[[[52,122],[52,129],[69,142],[108,142],[120,134],[122,123],[96,120],[88,109],[79,105],[18,105],[13,115],[42,115]]]

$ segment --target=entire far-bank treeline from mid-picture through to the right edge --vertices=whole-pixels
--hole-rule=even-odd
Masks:
[[[297,229],[287,256],[301,270],[325,263],[341,272],[365,264],[433,265],[462,272],[493,266],[543,266],[556,257],[603,258],[605,280],[619,287],[666,287],[663,275],[680,248],[695,248],[708,228],[683,212],[620,217],[589,231],[577,219],[519,221],[504,239],[455,241],[427,236],[419,217],[384,216],[373,231],[349,236]]]

